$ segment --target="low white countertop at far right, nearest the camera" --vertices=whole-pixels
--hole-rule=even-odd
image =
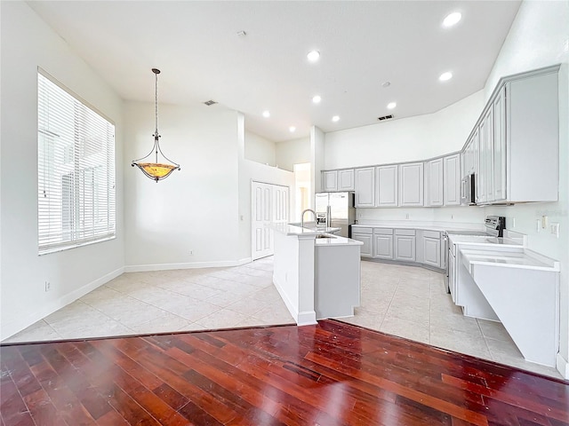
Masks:
[[[469,268],[472,264],[485,264],[509,268],[559,271],[559,262],[532,250],[501,251],[490,249],[461,248],[462,262]]]

